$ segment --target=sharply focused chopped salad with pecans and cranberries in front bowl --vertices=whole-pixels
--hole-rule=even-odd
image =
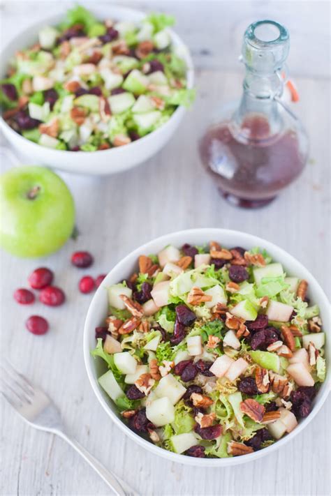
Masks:
[[[124,422],[198,458],[270,446],[311,412],[325,333],[308,283],[265,250],[166,246],[108,287],[98,382]]]

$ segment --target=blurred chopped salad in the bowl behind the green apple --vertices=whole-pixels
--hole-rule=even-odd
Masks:
[[[194,98],[172,24],[165,14],[134,23],[100,21],[82,6],[68,10],[10,61],[0,82],[3,118],[58,150],[104,150],[152,133]]]

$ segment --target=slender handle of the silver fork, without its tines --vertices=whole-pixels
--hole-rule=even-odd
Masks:
[[[138,496],[133,489],[131,489],[124,481],[113,475],[109,470],[107,470],[94,456],[92,456],[89,451],[87,451],[81,444],[79,444],[73,437],[68,437],[65,433],[57,431],[57,435],[62,437],[68,444],[73,446],[73,449],[80,453],[82,458],[91,465],[97,474],[101,476],[101,479],[105,481],[106,484],[112,489],[112,491],[117,496],[134,495]],[[125,488],[125,489],[124,489]]]

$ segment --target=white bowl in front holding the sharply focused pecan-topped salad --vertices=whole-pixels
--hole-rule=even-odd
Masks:
[[[302,279],[306,279],[309,283],[309,298],[311,299],[312,303],[318,303],[318,306],[321,309],[323,328],[325,332],[328,333],[330,329],[330,305],[328,299],[321,289],[321,286],[318,285],[316,279],[311,276],[311,273],[309,273],[309,271],[307,271],[307,269],[305,269],[304,266],[300,264],[300,262],[297,262],[294,257],[288,255],[286,251],[282,250],[273,243],[265,241],[264,239],[258,238],[256,236],[252,236],[251,234],[246,234],[244,232],[223,229],[195,229],[166,234],[165,236],[161,236],[160,238],[154,239],[153,241],[140,246],[140,248],[137,248],[137,250],[134,250],[132,253],[130,253],[130,255],[127,255],[110,271],[110,273],[108,273],[108,276],[103,280],[101,287],[99,287],[96,291],[96,294],[91,301],[91,305],[89,306],[89,311],[87,313],[84,328],[84,361],[91,386],[94,390],[94,393],[96,393],[96,398],[98,398],[98,401],[108,413],[110,419],[112,419],[112,421],[114,421],[116,425],[119,426],[119,428],[122,429],[128,437],[133,439],[133,441],[138,442],[138,444],[143,446],[148,451],[151,451],[156,455],[163,456],[164,458],[167,458],[168,460],[173,462],[184,463],[186,465],[196,465],[198,467],[228,467],[229,465],[237,465],[240,463],[250,462],[252,460],[256,460],[257,458],[261,458],[262,456],[265,456],[269,453],[272,453],[275,450],[279,449],[281,446],[284,446],[284,444],[289,442],[291,439],[294,439],[296,435],[301,433],[302,430],[304,430],[304,428],[308,425],[308,423],[311,422],[312,419],[314,419],[314,416],[322,407],[325,399],[328,396],[328,379],[330,377],[330,370],[328,370],[328,377],[325,382],[323,382],[321,389],[320,391],[318,391],[318,395],[314,400],[314,408],[312,409],[311,414],[309,414],[306,419],[302,419],[295,430],[293,430],[290,434],[286,435],[279,441],[260,451],[250,453],[249,455],[237,456],[234,458],[191,458],[189,456],[177,455],[176,453],[172,453],[171,451],[166,451],[165,449],[159,448],[159,446],[155,446],[155,444],[146,441],[126,426],[126,424],[122,421],[121,417],[117,413],[117,409],[114,403],[112,403],[112,400],[110,400],[109,396],[98,385],[97,379],[98,377],[100,377],[101,370],[104,370],[101,359],[95,360],[90,354],[91,350],[93,350],[96,346],[96,339],[94,334],[95,328],[96,326],[102,326],[104,324],[105,317],[108,315],[108,296],[105,287],[108,287],[109,285],[112,285],[114,283],[118,283],[120,280],[131,276],[131,274],[137,269],[137,261],[139,255],[149,255],[150,253],[157,253],[164,246],[170,243],[172,245],[180,247],[184,243],[203,245],[212,240],[219,241],[219,243],[228,248],[232,246],[243,246],[247,249],[253,248],[253,246],[263,247],[267,250],[268,253],[270,253],[270,255],[272,255],[274,260],[277,260],[277,262],[281,262],[281,264],[283,264],[286,273],[288,273],[289,275],[298,276]],[[329,369],[330,347],[329,351],[325,351]],[[321,426],[321,428],[323,428],[323,426]]]

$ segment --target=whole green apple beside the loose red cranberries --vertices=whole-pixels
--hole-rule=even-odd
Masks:
[[[17,257],[43,257],[73,232],[75,204],[62,179],[38,166],[0,177],[0,246]]]

